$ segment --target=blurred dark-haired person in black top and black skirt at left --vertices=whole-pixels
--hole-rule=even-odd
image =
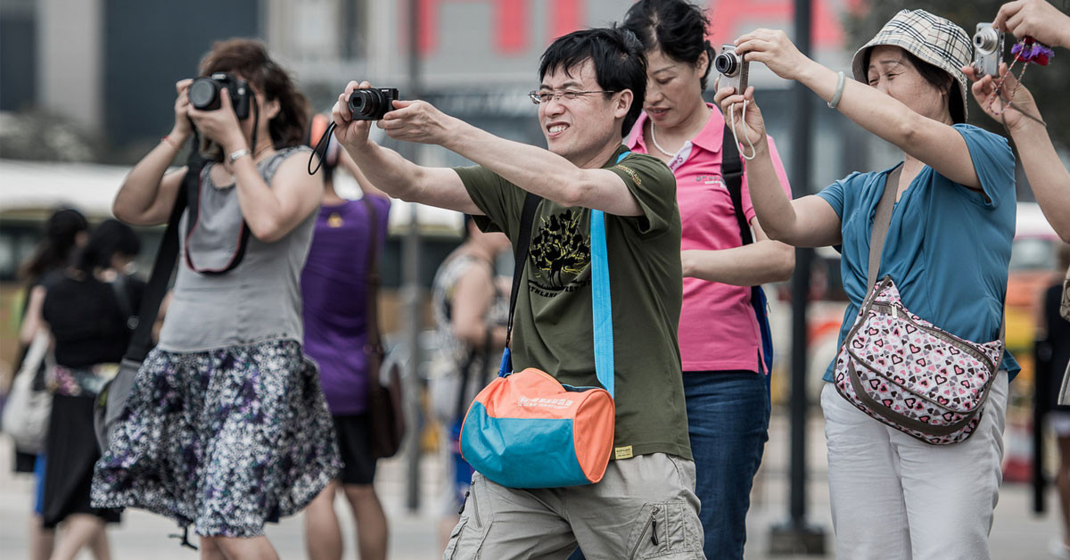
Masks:
[[[93,437],[93,400],[114,375],[136,324],[134,309],[144,283],[127,276],[126,269],[139,251],[128,226],[114,220],[102,223],[42,307],[56,340],[56,365],[46,376],[52,409],[42,497],[44,527],[63,529],[52,559],[73,559],[83,547],[96,558],[110,558],[104,527],[118,523],[120,513],[90,504],[93,464],[101,456]]]

